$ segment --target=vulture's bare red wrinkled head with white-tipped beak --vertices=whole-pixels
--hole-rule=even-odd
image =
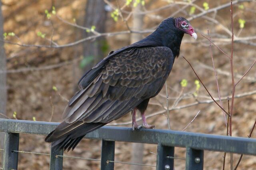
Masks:
[[[184,32],[185,34],[190,35],[191,37],[193,37],[196,40],[197,34],[196,34],[194,28],[188,22],[188,20],[186,20],[183,17],[174,18],[174,24],[178,30]]]

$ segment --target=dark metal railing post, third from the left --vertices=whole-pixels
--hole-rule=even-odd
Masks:
[[[115,141],[102,140],[101,170],[114,170]],[[111,161],[111,162],[110,162]]]

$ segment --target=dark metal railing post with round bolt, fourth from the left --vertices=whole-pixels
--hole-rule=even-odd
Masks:
[[[174,168],[174,147],[158,144],[157,146],[157,170],[173,170]]]

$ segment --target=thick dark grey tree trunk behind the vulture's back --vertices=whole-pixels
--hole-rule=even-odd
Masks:
[[[106,4],[103,0],[87,0],[83,26],[89,29],[91,29],[92,26],[95,26],[95,30],[97,32],[105,32],[107,15],[105,5]],[[86,30],[82,30],[83,38],[92,35],[93,34],[91,32],[86,32]],[[83,43],[84,58],[82,61],[76,61],[74,63],[74,82],[78,82],[81,74],[83,75],[84,73],[86,73],[88,69],[91,69],[96,63],[98,63],[100,59],[105,57],[104,52],[102,51],[105,43],[106,39],[104,37],[96,38],[96,40],[89,40]],[[83,64],[80,65],[80,62],[82,62]],[[78,67],[78,65],[80,65],[80,67]],[[74,84],[74,90],[78,90],[77,83]]]

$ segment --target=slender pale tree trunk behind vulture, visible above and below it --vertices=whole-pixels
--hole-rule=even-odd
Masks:
[[[142,9],[141,4],[138,4],[134,8],[134,12],[140,12]],[[140,14],[133,14],[133,21],[132,21],[132,30],[140,30],[143,27],[143,15]],[[141,40],[142,34],[132,33],[130,43],[135,43]],[[132,143],[132,161],[133,163],[143,164],[143,151],[144,151],[144,144],[142,143]],[[142,170],[142,166],[138,165],[131,165],[131,170]]]

